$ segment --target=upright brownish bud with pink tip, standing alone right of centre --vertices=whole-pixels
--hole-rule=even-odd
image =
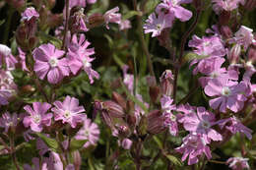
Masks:
[[[173,75],[170,70],[166,70],[160,77],[161,94],[170,96],[173,92]]]

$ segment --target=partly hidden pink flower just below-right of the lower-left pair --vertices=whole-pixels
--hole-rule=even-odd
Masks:
[[[99,130],[97,125],[92,122],[91,119],[86,118],[84,121],[84,126],[79,130],[75,138],[76,140],[88,140],[84,147],[96,145],[96,142],[99,139]]]

